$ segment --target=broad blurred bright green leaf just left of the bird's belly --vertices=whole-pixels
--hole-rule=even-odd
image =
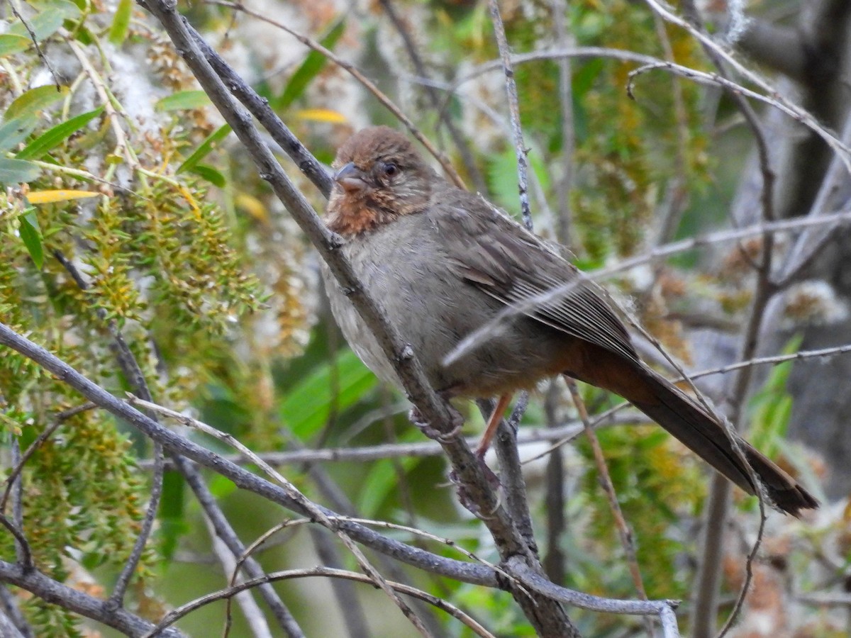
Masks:
[[[306,379],[284,397],[281,418],[290,430],[305,440],[328,422],[332,404],[338,412],[360,401],[377,383],[373,373],[354,352],[346,350],[337,357],[336,379],[330,364],[314,368]]]

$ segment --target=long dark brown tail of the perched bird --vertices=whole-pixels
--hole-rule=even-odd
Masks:
[[[682,441],[706,463],[749,494],[756,493],[748,470],[734,452],[724,426],[698,402],[672,385],[667,379],[642,364],[631,371],[627,387],[617,384],[618,394]],[[638,381],[637,376],[641,378]],[[596,384],[595,384],[596,385]],[[799,510],[819,506],[819,502],[776,464],[747,441],[737,437],[745,458],[756,471],[768,497],[781,510],[798,516]]]

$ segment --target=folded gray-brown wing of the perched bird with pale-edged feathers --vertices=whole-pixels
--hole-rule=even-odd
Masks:
[[[449,265],[466,282],[551,328],[637,360],[596,284],[539,237],[467,191],[444,192],[429,214]]]

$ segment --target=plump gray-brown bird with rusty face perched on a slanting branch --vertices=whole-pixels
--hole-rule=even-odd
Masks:
[[[745,492],[757,491],[721,421],[641,361],[603,296],[543,240],[449,184],[391,128],[353,135],[334,168],[328,228],[343,236],[360,282],[413,347],[431,385],[449,397],[500,397],[480,452],[515,391],[562,373],[623,396]],[[351,347],[380,379],[399,385],[334,277],[327,269],[324,276]],[[488,322],[487,339],[457,350]],[[781,510],[797,516],[818,506],[739,442]]]

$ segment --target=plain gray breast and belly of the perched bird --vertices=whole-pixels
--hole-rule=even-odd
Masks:
[[[412,214],[358,236],[342,248],[363,287],[411,345],[436,390],[486,396],[503,385],[532,385],[554,351],[541,331],[524,317],[510,320],[451,366],[443,358],[460,339],[480,328],[505,306],[463,281],[451,269],[431,221]],[[323,265],[331,311],[357,356],[382,380],[400,385],[372,332]],[[554,335],[555,336],[555,335]]]

